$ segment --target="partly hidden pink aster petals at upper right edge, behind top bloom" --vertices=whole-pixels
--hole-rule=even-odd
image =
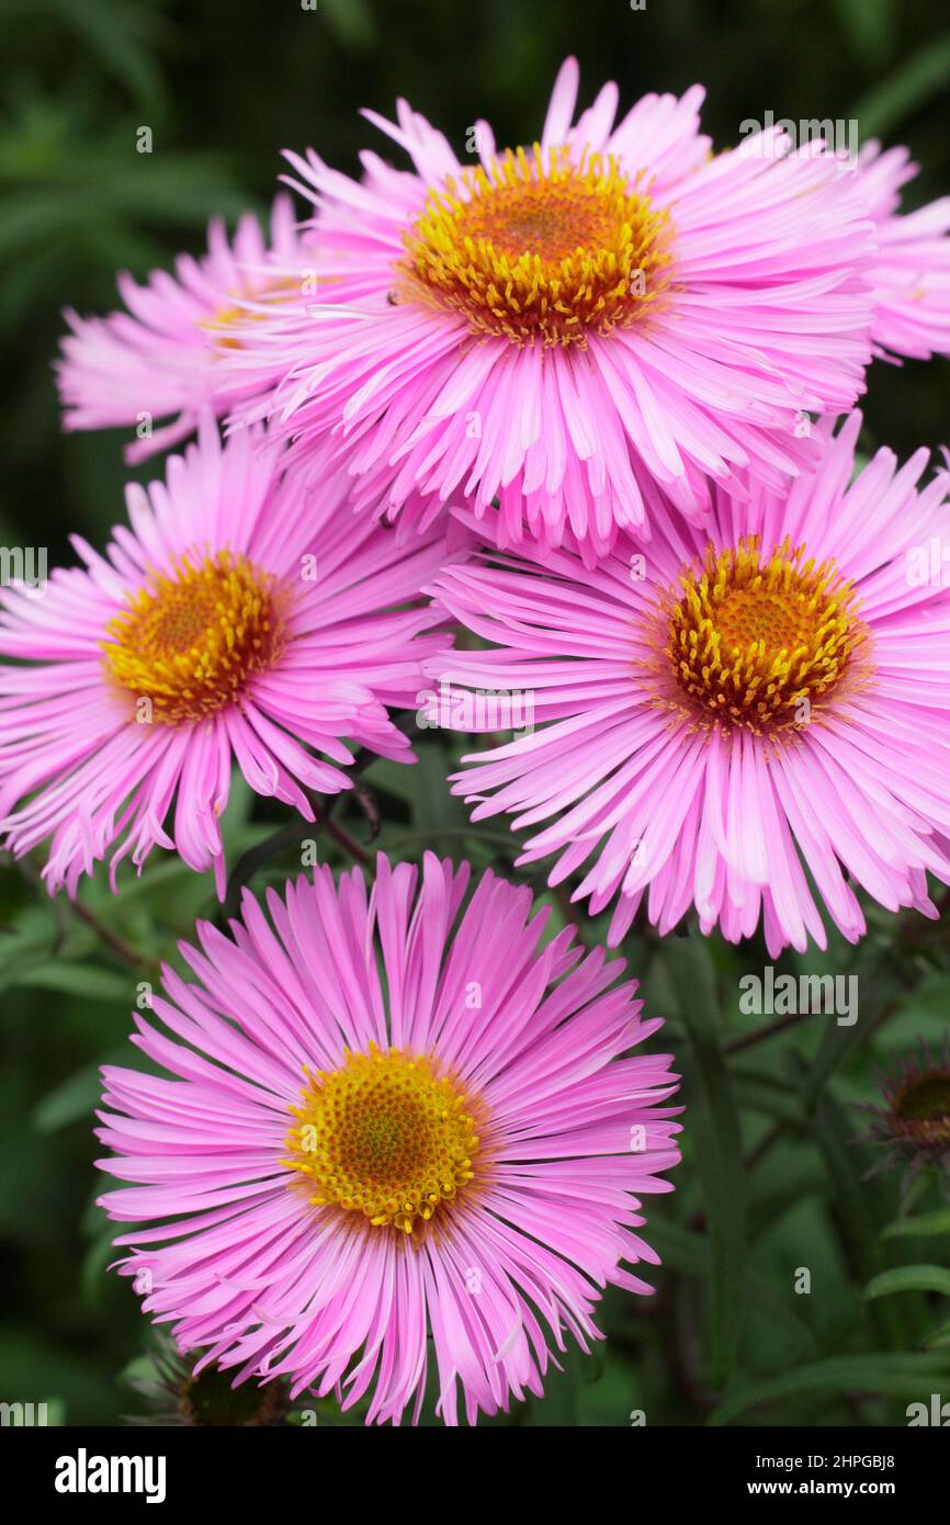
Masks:
[[[869,142],[859,156],[878,236],[872,337],[883,352],[929,360],[950,354],[950,197],[898,215],[901,186],[916,172],[906,148]]]

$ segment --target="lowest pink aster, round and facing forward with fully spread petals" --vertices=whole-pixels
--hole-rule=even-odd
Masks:
[[[630,1055],[621,961],[543,944],[531,892],[425,856],[246,892],[232,938],[198,926],[165,973],[174,1078],[105,1068],[102,1197],[134,1225],[122,1273],[183,1351],[293,1395],[371,1394],[367,1423],[470,1423],[541,1392],[549,1342],[599,1331],[607,1284],[650,1292],[639,1197],[669,1191],[668,1055]]]

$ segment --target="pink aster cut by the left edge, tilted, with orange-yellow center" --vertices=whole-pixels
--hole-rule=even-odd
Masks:
[[[3,589],[0,839],[52,839],[50,891],[156,843],[221,889],[232,762],[313,820],[307,790],[349,784],[348,741],[412,761],[387,706],[415,705],[450,639],[419,598],[444,534],[396,547],[339,476],[308,490],[279,464],[206,418],[165,482],[128,488],[105,557],[75,537],[84,567]]]

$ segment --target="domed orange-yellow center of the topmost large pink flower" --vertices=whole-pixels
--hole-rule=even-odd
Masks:
[[[432,191],[409,232],[396,299],[461,313],[476,336],[586,346],[665,290],[668,217],[616,159],[508,149]]]

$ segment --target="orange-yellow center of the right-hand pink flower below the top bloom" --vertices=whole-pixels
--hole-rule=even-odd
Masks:
[[[802,726],[848,673],[866,631],[833,561],[785,540],[761,561],[758,537],[708,546],[700,572],[671,590],[666,656],[680,694],[706,724],[752,732]]]

